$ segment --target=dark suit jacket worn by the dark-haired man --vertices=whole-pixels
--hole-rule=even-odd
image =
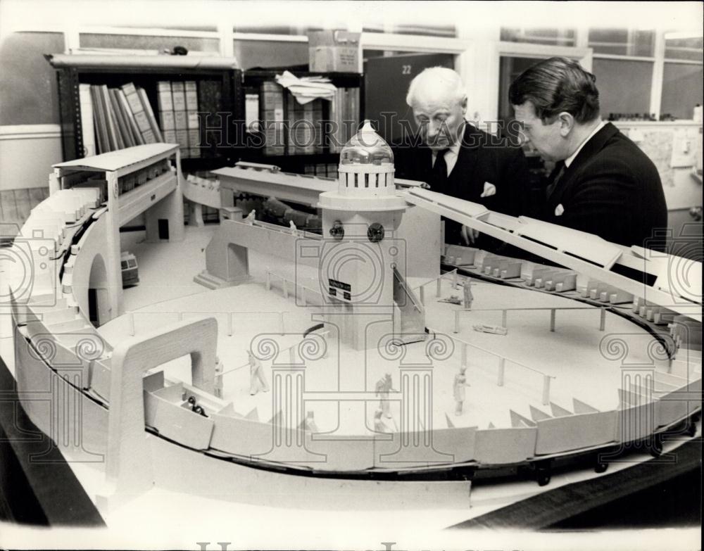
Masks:
[[[560,216],[558,205],[564,209]],[[565,169],[541,217],[613,243],[646,246],[654,229],[667,227],[658,169],[608,122]]]

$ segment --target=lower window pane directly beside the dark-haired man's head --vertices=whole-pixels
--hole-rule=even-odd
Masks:
[[[596,75],[603,118],[607,118],[609,113],[650,111],[652,62],[595,58],[593,73]],[[624,83],[627,83],[627,89],[624,89]]]

